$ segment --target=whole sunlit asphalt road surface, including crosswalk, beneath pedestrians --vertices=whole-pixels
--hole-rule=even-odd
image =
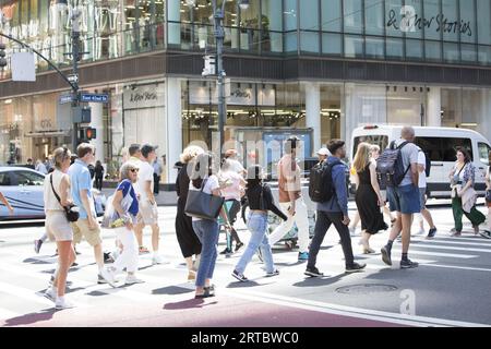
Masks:
[[[398,268],[398,242],[395,263],[388,267],[380,253],[361,254],[359,237],[354,237],[356,260],[368,267],[364,273],[345,275],[339,238],[332,230],[318,257],[318,267],[326,277],[306,278],[306,265],[297,262],[297,251],[278,244],[274,258],[280,275],[265,278],[254,257],[246,272],[251,281],[240,284],[230,276],[240,252],[220,255],[214,277],[217,296],[203,301],[193,299],[193,285],[187,281],[173,231],[176,208],[159,207],[160,251],[169,263],[152,266],[149,255],[142,255],[139,276],[146,282],[113,289],[96,284],[93,254],[83,242],[80,266],[69,274],[73,284],[68,297],[77,306],[60,312],[41,297],[57,261],[53,243],[46,243],[39,254],[33,250],[43,225],[2,225],[0,326],[491,326],[491,240],[475,237],[468,221],[462,238],[450,237],[450,207],[431,209],[439,228],[436,238],[415,236],[409,252],[419,268]],[[486,213],[483,206],[479,209]],[[248,231],[239,228],[247,241]],[[419,230],[416,225],[414,230]],[[149,234],[145,230],[147,245]],[[372,248],[380,251],[386,239],[387,232],[375,236]],[[220,237],[218,248],[224,246]],[[104,248],[113,249],[111,231],[104,231]]]

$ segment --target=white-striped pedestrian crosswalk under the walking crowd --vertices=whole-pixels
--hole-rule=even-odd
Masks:
[[[166,218],[167,222],[169,217]],[[165,231],[165,229],[163,230]],[[43,228],[37,229],[36,233],[41,230]],[[441,268],[444,272],[451,272],[450,269],[467,270],[482,273],[489,277],[488,273],[491,272],[491,267],[480,260],[491,253],[490,240],[474,234],[453,238],[443,232],[444,228],[441,230],[433,240],[426,240],[423,236],[412,238],[409,253],[411,258],[420,263],[420,268]],[[239,230],[239,233],[244,238],[243,240],[248,240],[249,233],[246,230]],[[145,233],[145,239],[149,241],[148,232]],[[374,236],[371,239],[372,248],[380,251],[386,239],[387,233]],[[26,314],[52,311],[52,302],[44,298],[43,293],[57,263],[57,257],[53,255],[55,244],[47,243],[43,246],[41,253],[36,255],[31,244],[32,239],[26,239],[25,236],[5,231],[2,240],[4,242],[0,243],[0,326],[19,324],[19,318],[24,318]],[[219,250],[224,248],[224,240],[221,236]],[[318,257],[319,268],[332,277],[344,273],[343,251],[338,240],[337,233],[334,230],[330,231]],[[390,268],[382,263],[380,253],[361,254],[358,241],[359,237],[352,238],[356,258],[367,263],[368,266],[367,273],[354,276],[354,278],[361,280],[370,273]],[[104,233],[104,246],[107,249],[113,246],[113,236],[110,232]],[[82,255],[77,257],[79,266],[72,268],[68,277],[72,282],[68,290],[68,297],[77,305],[75,311],[79,314],[88,314],[100,309],[109,311],[108,306],[117,309],[119,305],[128,303],[152,304],[158,302],[161,304],[182,297],[192,298],[194,287],[193,284],[187,281],[185,265],[173,232],[164,232],[161,238],[163,256],[169,263],[152,265],[151,256],[142,255],[139,277],[145,280],[145,284],[131,287],[122,285],[122,275],[117,288],[97,285],[97,268],[94,264],[92,249],[86,243],[82,243],[79,251],[82,252]],[[223,255],[218,257],[214,279],[218,289],[223,289],[225,293],[229,292],[226,289],[233,282],[230,272],[240,255],[241,253],[230,257]],[[396,260],[399,255],[400,243],[395,242],[393,258]],[[304,279],[304,264],[297,263],[296,251],[287,252],[280,244],[275,245],[274,260],[280,269],[280,276],[274,279],[264,278],[262,264],[256,257],[248,267],[248,277],[256,284],[260,291],[267,292],[272,284],[291,288],[292,285]],[[392,268],[397,269],[397,263]],[[241,289],[239,293],[242,294],[241,297],[246,297],[248,290]],[[301,296],[298,296],[297,299],[301,299]],[[28,322],[21,322],[21,324],[29,325]]]

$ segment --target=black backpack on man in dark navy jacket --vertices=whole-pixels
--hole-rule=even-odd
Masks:
[[[328,202],[334,196],[333,167],[343,165],[340,160],[315,165],[310,170],[309,196],[314,203]]]

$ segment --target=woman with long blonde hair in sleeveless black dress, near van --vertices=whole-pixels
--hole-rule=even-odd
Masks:
[[[363,246],[364,254],[375,252],[370,248],[370,238],[380,230],[388,229],[381,212],[385,203],[376,180],[376,165],[370,158],[370,144],[361,143],[358,146],[352,165],[356,170],[358,184],[355,200],[360,214],[362,229],[360,244]]]

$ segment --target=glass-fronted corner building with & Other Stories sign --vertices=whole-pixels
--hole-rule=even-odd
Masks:
[[[220,1],[218,1],[220,2]],[[361,124],[458,127],[491,140],[491,0],[237,0],[225,4],[225,139],[306,141],[306,155]],[[191,142],[216,149],[217,88],[209,0],[0,0],[0,32],[70,72],[81,10],[97,157],[109,171],[131,143],[165,155],[163,181]],[[8,55],[22,50],[8,43]],[[70,144],[69,88],[36,58],[35,83],[0,72],[0,163]],[[242,156],[248,154],[243,147]],[[267,165],[268,160],[265,160]]]

